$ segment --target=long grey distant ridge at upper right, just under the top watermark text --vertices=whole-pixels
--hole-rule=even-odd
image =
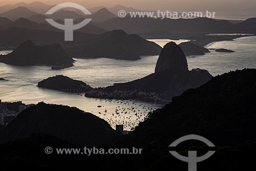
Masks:
[[[239,24],[231,24],[227,20],[215,20],[211,18],[112,18],[99,23],[98,26],[106,29],[122,29],[129,33],[143,33],[154,30],[166,30],[169,32],[251,32],[256,33],[256,18],[250,18]]]

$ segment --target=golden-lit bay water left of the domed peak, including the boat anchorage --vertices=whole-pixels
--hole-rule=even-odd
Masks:
[[[127,82],[153,73],[157,58],[158,56],[144,56],[138,61],[106,58],[75,59],[74,67],[63,70],[51,70],[50,67],[44,66],[10,66],[0,63],[0,78],[8,80],[0,81],[0,99],[2,101],[20,100],[27,104],[45,101],[76,106],[109,121],[113,127],[117,123],[126,122],[125,129],[130,130],[142,121],[148,112],[161,108],[163,104],[87,98],[82,94],[37,88],[36,85],[42,79],[62,74],[82,80],[92,87],[111,86],[115,82]],[[102,108],[98,108],[98,105]],[[120,115],[115,114],[116,110]]]

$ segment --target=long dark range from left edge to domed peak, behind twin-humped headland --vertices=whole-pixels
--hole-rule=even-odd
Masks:
[[[113,30],[103,34],[74,32],[74,41],[66,42],[63,33],[49,30],[9,28],[1,31],[0,46],[18,46],[32,40],[39,45],[60,44],[71,57],[137,60],[143,55],[159,55],[161,47],[136,34]],[[11,36],[10,36],[11,35]]]

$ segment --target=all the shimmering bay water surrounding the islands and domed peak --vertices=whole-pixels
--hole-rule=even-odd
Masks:
[[[170,40],[154,41],[163,46]],[[176,42],[179,44],[184,41],[188,40]],[[211,50],[211,53],[203,56],[188,57],[189,69],[206,69],[212,75],[218,75],[230,70],[256,68],[256,36],[216,42],[207,48],[225,48],[235,52],[219,53]],[[115,101],[87,98],[83,95],[40,89],[36,87],[37,82],[50,76],[62,74],[82,80],[92,87],[111,86],[113,83],[131,81],[153,73],[157,58],[158,56],[144,56],[137,61],[107,58],[75,59],[74,67],[63,70],[51,70],[50,67],[43,66],[18,67],[0,63],[0,78],[8,80],[0,81],[0,99],[3,101],[21,100],[25,103],[45,101],[77,106],[81,110],[92,112],[107,120],[113,127],[117,123],[124,123],[125,129],[130,130],[144,119],[147,112],[161,108],[163,105],[134,100]],[[98,105],[102,105],[102,108],[97,108]],[[107,111],[105,112],[105,110]],[[116,110],[120,112],[120,115],[115,114]],[[125,112],[126,114],[124,114]]]

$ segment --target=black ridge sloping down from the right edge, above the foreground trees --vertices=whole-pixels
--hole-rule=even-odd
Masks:
[[[215,145],[256,141],[255,82],[256,69],[216,76],[173,98],[141,123],[131,137],[137,142],[143,137],[145,142],[164,147],[189,134],[207,137]],[[155,145],[150,148],[153,150]]]

